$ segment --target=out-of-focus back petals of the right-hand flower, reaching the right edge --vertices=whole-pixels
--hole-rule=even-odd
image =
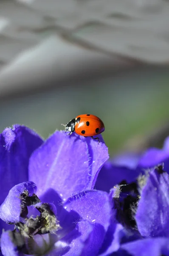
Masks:
[[[149,148],[142,154],[127,152],[107,161],[99,172],[95,188],[109,192],[116,184],[135,182],[140,175],[159,164],[163,164],[169,173],[169,137],[162,149]]]

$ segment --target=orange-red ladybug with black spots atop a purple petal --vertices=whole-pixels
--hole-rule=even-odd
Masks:
[[[65,125],[65,131],[70,131],[72,134],[74,131],[84,137],[92,137],[94,140],[99,138],[93,138],[97,134],[101,134],[104,131],[104,123],[97,116],[84,114],[79,115],[70,120]]]

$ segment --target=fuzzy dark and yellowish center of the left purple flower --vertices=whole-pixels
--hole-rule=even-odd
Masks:
[[[34,206],[39,215],[28,217],[28,207],[30,206]],[[51,205],[41,203],[35,194],[28,196],[28,191],[25,190],[21,195],[20,217],[21,221],[15,224],[15,229],[10,233],[11,239],[17,245],[18,250],[25,254],[38,253],[38,255],[43,255],[50,250],[57,240],[56,235],[55,239],[52,239],[52,234],[56,234],[56,231],[61,228],[59,221],[51,210]],[[39,239],[41,240],[40,248],[38,246]]]

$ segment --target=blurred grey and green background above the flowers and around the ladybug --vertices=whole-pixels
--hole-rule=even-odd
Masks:
[[[169,135],[168,0],[1,0],[0,132],[99,116],[110,155]]]

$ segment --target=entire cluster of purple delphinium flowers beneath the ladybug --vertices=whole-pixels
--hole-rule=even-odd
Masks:
[[[3,256],[169,255],[169,140],[108,160],[99,139],[0,134]]]

